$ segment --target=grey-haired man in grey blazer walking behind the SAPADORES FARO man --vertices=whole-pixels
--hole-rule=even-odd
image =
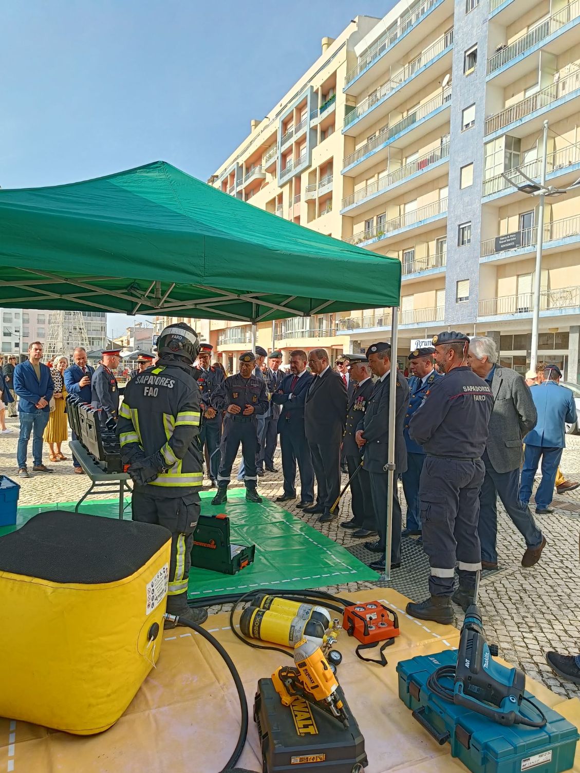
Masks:
[[[490,417],[483,464],[486,476],[479,492],[479,541],[483,569],[497,568],[496,497],[506,509],[513,525],[526,541],[523,567],[533,567],[540,560],[546,540],[534,522],[527,504],[520,501],[520,465],[524,435],[537,422],[534,400],[524,379],[511,368],[497,365],[493,339],[477,336],[469,343],[469,367],[490,384],[493,410]]]

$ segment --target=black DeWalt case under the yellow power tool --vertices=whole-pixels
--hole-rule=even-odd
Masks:
[[[367,767],[364,738],[350,713],[343,691],[349,727],[305,699],[282,706],[271,679],[258,681],[254,722],[260,736],[264,773],[362,773]]]

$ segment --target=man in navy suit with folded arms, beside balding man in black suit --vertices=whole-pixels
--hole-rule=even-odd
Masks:
[[[300,472],[299,508],[314,502],[314,470],[310,449],[304,431],[304,401],[312,373],[306,370],[306,352],[296,349],[290,352],[290,373],[284,376],[280,388],[272,394],[272,407],[280,407],[278,432],[284,473],[284,494],[276,502],[288,502],[296,498],[296,462]]]

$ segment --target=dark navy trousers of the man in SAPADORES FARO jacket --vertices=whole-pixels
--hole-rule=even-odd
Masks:
[[[421,472],[423,550],[429,558],[432,596],[451,596],[455,564],[459,581],[475,587],[481,570],[479,490],[486,468],[481,459],[429,456]]]

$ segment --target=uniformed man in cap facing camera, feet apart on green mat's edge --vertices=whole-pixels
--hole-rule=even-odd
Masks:
[[[240,355],[240,373],[227,376],[211,396],[211,405],[215,410],[225,410],[223,434],[221,438],[220,469],[217,472],[217,494],[212,505],[227,502],[227,486],[230,482],[231,468],[237,449],[242,447],[244,457],[244,481],[246,499],[249,502],[261,502],[256,487],[256,452],[258,451],[258,417],[268,410],[266,382],[254,373],[256,356],[254,352]]]

